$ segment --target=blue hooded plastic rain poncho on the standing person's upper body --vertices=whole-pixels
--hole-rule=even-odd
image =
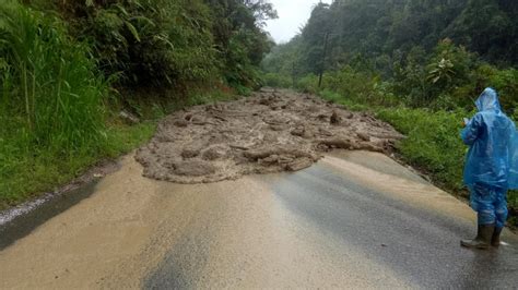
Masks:
[[[507,191],[518,189],[518,133],[515,123],[502,112],[496,92],[486,88],[475,101],[479,112],[461,136],[470,146],[464,183]]]

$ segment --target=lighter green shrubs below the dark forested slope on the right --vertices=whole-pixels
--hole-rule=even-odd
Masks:
[[[514,114],[518,105],[517,69],[498,68],[485,62],[448,38],[440,40],[428,53],[419,47],[412,49],[404,58],[395,60],[388,72],[378,70],[370,59],[360,57],[340,68],[328,69],[323,72],[320,88],[317,75],[313,72],[297,74],[293,71],[272,71],[274,69],[269,67],[269,62],[278,58],[275,53],[286,52],[283,51],[284,46],[274,48],[262,64],[267,71],[264,81],[268,85],[284,85],[308,92],[329,89],[360,102],[434,110],[471,110],[480,92],[493,86],[498,90],[506,112]]]

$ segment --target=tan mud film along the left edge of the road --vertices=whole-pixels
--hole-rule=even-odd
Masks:
[[[0,288],[95,287],[146,243],[156,185],[131,158],[95,193],[0,252]]]

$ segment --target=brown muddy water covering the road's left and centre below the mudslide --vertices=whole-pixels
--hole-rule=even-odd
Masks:
[[[90,198],[0,252],[0,288],[407,285],[301,225],[254,177],[179,185],[141,177],[132,156],[121,162]]]

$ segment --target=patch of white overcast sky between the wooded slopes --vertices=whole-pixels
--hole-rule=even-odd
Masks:
[[[311,8],[320,2],[319,0],[270,0],[273,3],[279,19],[269,21],[267,31],[275,41],[286,43],[298,34],[299,28],[306,24],[311,13]],[[332,0],[322,0],[323,3],[331,3]]]

